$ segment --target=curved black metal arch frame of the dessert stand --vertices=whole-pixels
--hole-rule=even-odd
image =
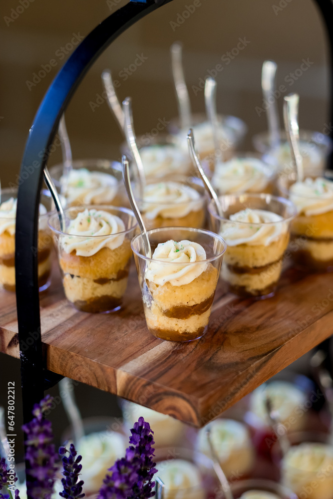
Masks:
[[[18,339],[21,360],[23,419],[31,418],[33,404],[43,397],[44,372],[40,334],[37,275],[37,218],[43,169],[59,119],[87,70],[125,29],[143,16],[172,0],[130,0],[102,21],[80,43],[50,85],[38,111],[25,146],[18,189],[15,267]],[[333,96],[332,0],[314,0],[324,19],[331,56],[331,99]],[[333,102],[331,102],[333,117]],[[333,120],[332,120],[333,121]],[[32,172],[32,173],[30,173]]]

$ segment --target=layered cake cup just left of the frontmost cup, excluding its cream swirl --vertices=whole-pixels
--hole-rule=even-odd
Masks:
[[[66,298],[77,310],[89,313],[115,312],[121,308],[126,291],[130,259],[130,247],[137,223],[131,210],[104,205],[88,205],[72,207],[64,211],[66,227],[79,212],[85,209],[105,211],[119,217],[125,231],[110,236],[89,236],[94,243],[112,242],[115,238],[123,239],[114,249],[106,245],[90,256],[80,256],[76,250],[67,253],[64,250],[64,238],[73,237],[79,241],[87,240],[87,236],[76,236],[60,230],[58,215],[49,219],[54,242],[59,258],[62,283]]]

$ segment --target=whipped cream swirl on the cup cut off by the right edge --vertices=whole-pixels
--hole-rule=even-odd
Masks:
[[[295,182],[290,188],[289,199],[298,213],[320,215],[333,210],[333,181],[318,177]]]

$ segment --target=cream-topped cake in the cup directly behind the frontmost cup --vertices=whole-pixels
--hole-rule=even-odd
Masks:
[[[207,196],[199,179],[148,180],[144,198],[136,198],[147,230],[161,227],[203,229],[205,226]]]

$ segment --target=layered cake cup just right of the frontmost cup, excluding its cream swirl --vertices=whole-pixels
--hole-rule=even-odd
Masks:
[[[226,224],[228,227],[251,230],[281,229],[280,236],[269,245],[250,245],[247,243],[228,245],[223,265],[222,277],[228,283],[229,290],[244,297],[267,298],[273,296],[280,279],[283,256],[290,238],[290,224],[296,214],[294,205],[284,199],[270,194],[236,194],[219,198],[222,206],[222,217],[216,212],[211,202],[208,206],[211,229],[222,235]],[[279,222],[249,223],[229,220],[230,215],[240,211],[265,210],[282,217]]]

